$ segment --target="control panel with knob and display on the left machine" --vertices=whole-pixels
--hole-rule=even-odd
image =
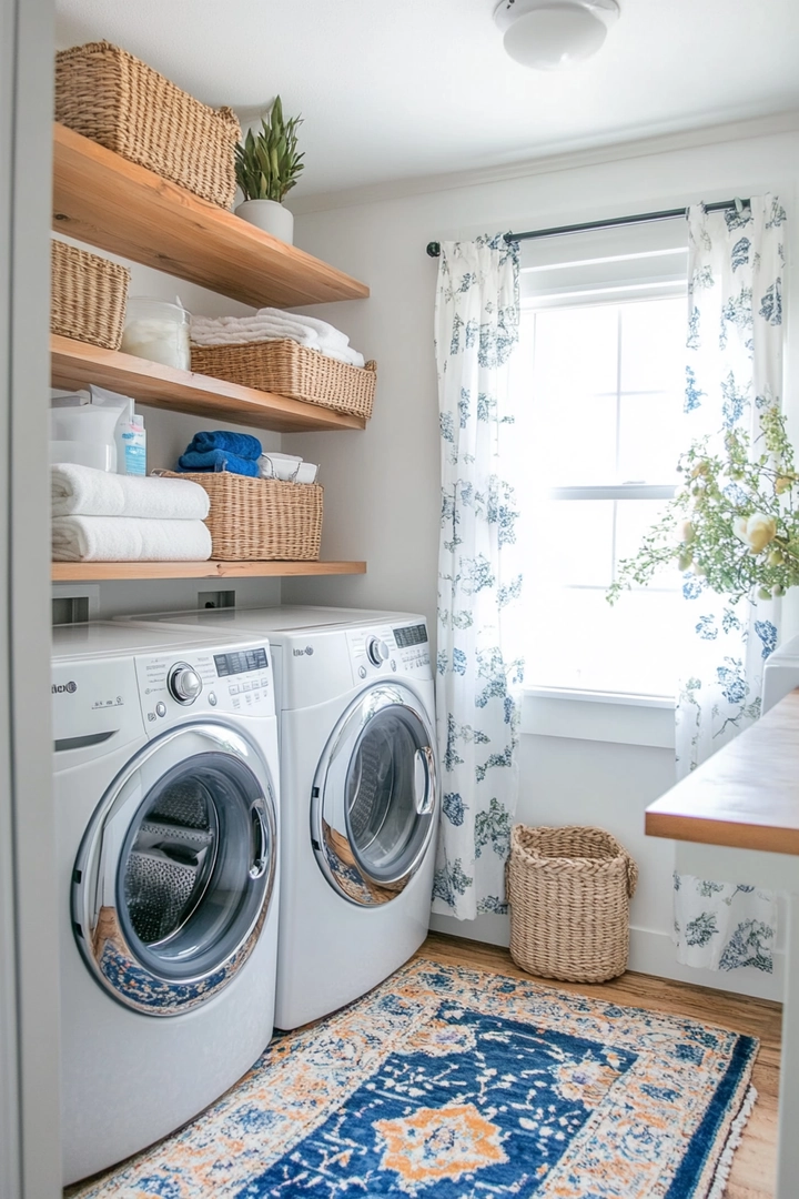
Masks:
[[[135,667],[141,711],[153,735],[177,716],[274,715],[266,641],[143,655]]]

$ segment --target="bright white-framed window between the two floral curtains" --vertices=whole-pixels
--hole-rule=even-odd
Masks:
[[[679,576],[605,595],[678,480],[685,230],[586,236],[522,260],[527,683],[672,695]]]

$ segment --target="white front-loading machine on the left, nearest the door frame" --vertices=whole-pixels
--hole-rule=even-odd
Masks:
[[[54,629],[63,1181],[232,1085],[273,1028],[278,737],[264,637]]]

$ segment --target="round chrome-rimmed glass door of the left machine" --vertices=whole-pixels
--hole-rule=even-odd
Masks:
[[[146,746],[99,802],[73,872],[75,940],[105,990],[147,1016],[217,995],[268,911],[277,819],[238,733],[186,724]]]

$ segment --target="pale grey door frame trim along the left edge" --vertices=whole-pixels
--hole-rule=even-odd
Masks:
[[[48,752],[47,453],[54,4],[0,5],[0,1191],[56,1199],[61,897]]]

